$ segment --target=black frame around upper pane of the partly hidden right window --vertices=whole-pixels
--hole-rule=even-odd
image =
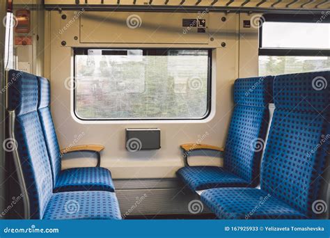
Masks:
[[[297,48],[266,48],[262,47],[262,25],[265,22],[303,22],[317,23],[322,15],[288,15],[288,14],[265,14],[260,18],[259,29],[259,56],[330,56],[330,49],[297,49]],[[317,24],[330,23],[330,17],[322,19]]]

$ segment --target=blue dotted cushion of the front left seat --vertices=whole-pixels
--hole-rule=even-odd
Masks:
[[[115,193],[73,191],[53,193],[43,219],[121,219]]]

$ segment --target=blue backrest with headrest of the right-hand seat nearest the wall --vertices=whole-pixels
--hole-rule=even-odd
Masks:
[[[273,77],[237,79],[223,167],[256,186],[269,123]]]

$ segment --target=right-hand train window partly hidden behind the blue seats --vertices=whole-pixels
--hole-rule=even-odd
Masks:
[[[260,28],[259,74],[330,69],[330,22],[322,15],[265,15]]]

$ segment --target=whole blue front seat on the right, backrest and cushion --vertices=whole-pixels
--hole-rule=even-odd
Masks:
[[[219,219],[317,218],[329,163],[329,85],[329,71],[275,77],[260,189],[203,191],[201,200]]]

